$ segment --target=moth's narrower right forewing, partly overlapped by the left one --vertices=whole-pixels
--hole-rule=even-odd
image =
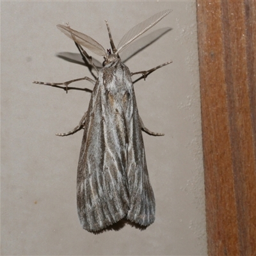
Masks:
[[[133,118],[129,122],[128,183],[129,211],[127,219],[143,226],[155,220],[155,198],[148,177],[145,148],[139,121],[135,95],[133,100]]]

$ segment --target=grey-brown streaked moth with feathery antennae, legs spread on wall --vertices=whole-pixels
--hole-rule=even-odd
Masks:
[[[132,41],[166,17],[171,10],[156,13],[130,29],[115,47],[108,28],[111,50],[105,49],[88,35],[70,26],[57,25],[61,32],[74,40],[83,55],[98,74],[96,81],[82,77],[65,83],[36,84],[51,86],[88,80],[94,84],[88,110],[79,124],[67,136],[83,127],[84,134],[77,168],[77,212],[80,223],[89,232],[98,232],[123,218],[147,227],[155,220],[155,198],[148,177],[145,149],[141,130],[154,136],[143,124],[136,104],[132,76],[145,77],[168,65],[168,61],[147,71],[130,72],[119,54]],[[102,69],[98,70],[92,57],[83,49],[103,56]]]

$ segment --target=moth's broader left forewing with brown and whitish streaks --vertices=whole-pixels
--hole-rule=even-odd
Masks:
[[[104,94],[104,86],[97,81],[77,170],[77,211],[81,225],[88,231],[108,227],[124,218],[129,209],[124,140],[118,140],[114,120],[108,119]],[[122,147],[118,148],[118,144]]]

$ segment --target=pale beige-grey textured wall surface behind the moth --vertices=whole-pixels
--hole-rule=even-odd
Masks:
[[[143,231],[127,224],[90,234],[76,209],[83,131],[54,135],[78,124],[90,93],[32,81],[91,77],[83,65],[56,57],[77,53],[56,24],[69,22],[107,49],[104,20],[117,45],[132,26],[168,8],[121,56],[154,41],[125,61],[131,72],[173,61],[134,84],[144,124],[165,134],[143,133],[156,221]],[[206,255],[195,2],[3,2],[1,38],[1,255]],[[72,87],[93,88],[86,81]]]

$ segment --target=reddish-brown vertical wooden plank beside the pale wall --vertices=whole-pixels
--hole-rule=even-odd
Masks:
[[[196,3],[208,252],[255,255],[255,1]]]

